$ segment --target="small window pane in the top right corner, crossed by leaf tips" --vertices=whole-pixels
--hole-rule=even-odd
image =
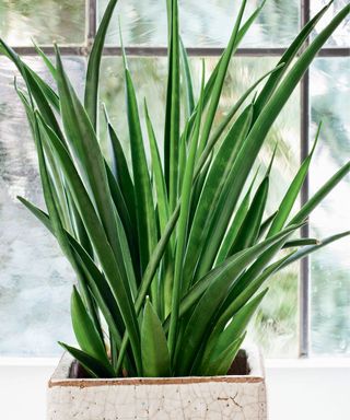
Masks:
[[[312,14],[316,14],[324,5],[328,4],[328,0],[312,0],[311,10]],[[318,34],[330,20],[349,2],[348,0],[335,0],[329,7],[329,10],[323,16],[322,21],[317,24],[315,35]],[[350,47],[350,18],[348,16],[340,26],[335,31],[329,40],[328,47]]]

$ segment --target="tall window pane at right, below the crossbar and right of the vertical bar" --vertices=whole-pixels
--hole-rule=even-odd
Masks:
[[[312,132],[323,120],[322,138],[311,168],[315,192],[349,161],[350,59],[317,59],[311,70]],[[312,234],[323,238],[349,230],[350,178],[342,180],[313,213]],[[312,349],[350,354],[350,240],[315,253],[312,275]]]

